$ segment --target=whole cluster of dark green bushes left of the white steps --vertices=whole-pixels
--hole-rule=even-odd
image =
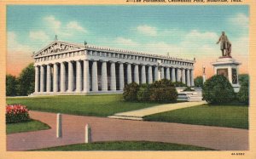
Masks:
[[[127,101],[175,101],[177,90],[170,80],[162,79],[152,84],[138,85],[136,82],[127,84],[124,89]]]

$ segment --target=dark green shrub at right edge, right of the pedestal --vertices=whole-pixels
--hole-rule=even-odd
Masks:
[[[249,103],[249,83],[247,81],[241,84],[241,88],[237,94],[237,98],[242,103]]]

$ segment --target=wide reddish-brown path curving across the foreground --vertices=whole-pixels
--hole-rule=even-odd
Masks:
[[[35,150],[84,142],[90,124],[92,141],[148,140],[197,145],[215,150],[248,150],[248,130],[167,122],[143,122],[94,116],[62,115],[62,138],[55,138],[56,114],[30,111],[33,119],[52,129],[7,135],[7,150]]]

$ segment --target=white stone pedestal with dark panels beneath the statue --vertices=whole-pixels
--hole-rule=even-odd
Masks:
[[[224,75],[224,77],[227,77],[235,92],[239,92],[241,86],[238,81],[238,66],[241,65],[241,63],[231,57],[221,57],[218,58],[216,62],[213,62],[212,65],[214,68],[214,74]]]

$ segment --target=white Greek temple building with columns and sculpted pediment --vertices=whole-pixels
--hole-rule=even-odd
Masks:
[[[127,83],[152,83],[163,78],[194,86],[195,60],[58,40],[33,58],[33,95],[118,93]]]

